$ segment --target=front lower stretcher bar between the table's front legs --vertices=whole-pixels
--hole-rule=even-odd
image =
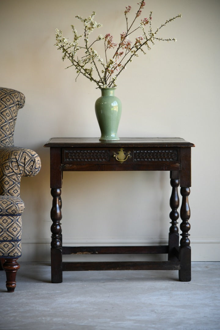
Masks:
[[[63,271],[83,270],[179,270],[179,261],[63,262]]]

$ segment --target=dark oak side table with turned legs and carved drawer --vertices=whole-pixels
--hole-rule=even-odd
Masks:
[[[121,138],[119,141],[99,141],[98,138],[51,138],[50,148],[51,209],[51,281],[62,282],[63,271],[81,270],[178,270],[179,281],[191,280],[191,248],[189,240],[191,187],[191,147],[181,138]],[[170,171],[171,227],[168,245],[64,247],[60,220],[61,187],[64,171]],[[179,217],[178,186],[182,204]],[[147,219],[146,219],[147,221]],[[168,261],[62,262],[63,254],[148,254],[166,253]]]

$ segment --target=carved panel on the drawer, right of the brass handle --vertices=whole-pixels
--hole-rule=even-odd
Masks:
[[[179,162],[178,149],[135,149],[135,162]]]

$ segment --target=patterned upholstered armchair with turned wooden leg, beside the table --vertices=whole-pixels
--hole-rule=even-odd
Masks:
[[[6,272],[8,292],[16,287],[17,259],[21,256],[20,179],[34,176],[41,169],[38,154],[14,146],[14,129],[18,110],[25,96],[13,89],[0,87],[0,269]]]

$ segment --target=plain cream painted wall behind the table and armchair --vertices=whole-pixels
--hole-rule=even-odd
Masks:
[[[55,28],[71,37],[76,15],[96,20],[117,38],[125,6],[137,0],[1,0],[0,85],[20,90],[26,105],[15,132],[17,146],[36,150],[40,174],[22,178],[23,261],[50,259],[49,150],[55,136],[98,137],[94,113],[100,91],[84,77],[75,82],[70,63],[53,46]],[[123,114],[119,136],[180,136],[193,142],[190,239],[194,261],[219,260],[219,0],[149,0],[157,27],[179,13],[158,43],[135,59],[118,79]],[[210,162],[212,163],[210,167]],[[209,170],[208,170],[209,166]],[[64,243],[145,244],[167,242],[169,173],[64,173]],[[147,216],[146,216],[147,214]],[[119,221],[120,219],[120,221]],[[73,221],[74,220],[74,221]],[[117,257],[119,258],[119,256]],[[130,258],[130,256],[127,256]],[[109,260],[109,259],[108,259]]]

